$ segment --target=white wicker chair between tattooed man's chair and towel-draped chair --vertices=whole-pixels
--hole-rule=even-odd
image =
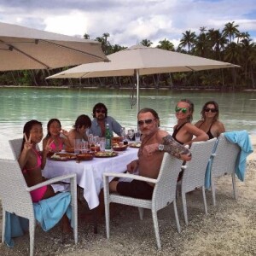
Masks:
[[[186,193],[195,190],[195,188],[202,188],[202,195],[204,201],[205,212],[207,214],[207,199],[205,191],[205,173],[207,170],[208,160],[212,154],[212,148],[216,142],[216,138],[213,138],[207,142],[192,143],[190,152],[192,154],[192,160],[183,166],[182,177],[182,201],[183,201],[183,214],[185,224],[188,225],[188,212]]]

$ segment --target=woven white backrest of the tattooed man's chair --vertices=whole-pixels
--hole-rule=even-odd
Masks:
[[[176,199],[177,176],[181,170],[183,160],[165,153],[158,176],[158,183],[154,186],[152,202],[156,211],[166,207]]]

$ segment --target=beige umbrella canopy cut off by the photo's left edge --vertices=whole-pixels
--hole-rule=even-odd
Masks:
[[[100,43],[0,22],[0,71],[108,61]]]

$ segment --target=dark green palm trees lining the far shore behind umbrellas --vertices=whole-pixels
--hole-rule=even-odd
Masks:
[[[202,26],[199,34],[191,30],[183,32],[180,44],[175,49],[172,42],[164,38],[156,46],[160,49],[172,50],[188,55],[196,55],[217,61],[226,61],[241,66],[240,68],[227,68],[208,70],[196,73],[165,73],[142,76],[141,84],[144,87],[166,88],[218,88],[222,90],[255,89],[256,75],[256,44],[248,32],[240,32],[239,25],[234,21],[224,25],[222,30]],[[125,49],[119,44],[110,44],[109,33],[95,38],[102,44],[106,55]],[[85,33],[84,38],[90,35]],[[152,42],[145,38],[140,44],[152,46]],[[0,84],[36,85],[36,86],[133,86],[134,79],[127,77],[97,78],[97,79],[49,79],[50,74],[61,72],[65,68],[55,70],[23,70],[0,73]]]

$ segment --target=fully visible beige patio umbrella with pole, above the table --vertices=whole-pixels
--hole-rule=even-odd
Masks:
[[[214,61],[164,49],[135,45],[108,55],[110,62],[82,64],[49,76],[47,79],[84,79],[112,76],[137,76],[137,112],[139,102],[139,76],[154,73],[175,73],[207,69],[239,67],[223,61]]]

